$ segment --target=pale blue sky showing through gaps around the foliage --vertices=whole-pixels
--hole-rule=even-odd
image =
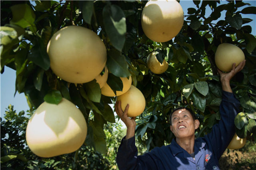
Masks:
[[[226,4],[228,2],[222,1],[222,3]],[[250,3],[252,6],[256,6],[255,0],[253,1],[246,0],[246,3]],[[181,0],[180,4],[184,10],[185,15],[187,14],[187,8],[196,7],[192,1],[188,1],[188,0]],[[211,10],[210,8],[208,8],[206,10],[206,16],[207,14],[209,15],[210,13],[211,13]],[[225,13],[223,12],[220,20],[224,20],[224,17],[225,17]],[[242,17],[253,19],[253,21],[248,23],[247,25],[252,26],[252,35],[256,35],[256,15],[243,14]],[[29,109],[24,93],[18,94],[17,92],[16,96],[14,97],[15,79],[16,79],[15,70],[5,67],[4,73],[0,75],[1,117],[3,117],[5,110],[9,104],[14,105],[14,109],[17,112],[22,110],[26,111]]]

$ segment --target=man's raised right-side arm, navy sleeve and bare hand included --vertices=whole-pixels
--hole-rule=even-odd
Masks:
[[[223,90],[222,102],[219,109],[221,120],[218,124],[214,125],[212,132],[205,136],[205,139],[211,143],[212,151],[217,159],[226,150],[235,133],[234,118],[239,112],[239,101],[232,93],[230,80],[237,72],[243,69],[244,65],[245,60],[237,67],[233,64],[232,70],[228,73],[218,70]]]

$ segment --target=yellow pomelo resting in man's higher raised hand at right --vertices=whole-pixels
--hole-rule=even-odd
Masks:
[[[244,59],[244,52],[236,45],[230,43],[218,45],[215,53],[216,66],[222,71],[230,71],[233,63],[236,63],[236,66],[238,66]]]

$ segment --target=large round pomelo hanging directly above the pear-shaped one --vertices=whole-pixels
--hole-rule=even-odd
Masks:
[[[106,47],[100,37],[76,25],[57,31],[47,45],[47,53],[52,71],[72,83],[92,81],[107,60]]]

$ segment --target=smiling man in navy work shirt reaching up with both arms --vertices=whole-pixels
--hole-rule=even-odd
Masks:
[[[194,133],[200,123],[193,116],[194,113],[182,107],[170,115],[170,130],[175,135],[172,143],[156,147],[142,156],[138,156],[135,146],[135,117],[128,117],[128,105],[123,111],[120,102],[116,102],[115,111],[127,126],[126,137],[122,139],[116,157],[119,169],[219,169],[218,160],[234,136],[234,117],[239,111],[239,101],[232,93],[230,80],[244,65],[245,60],[237,67],[233,64],[232,70],[228,73],[218,70],[223,90],[220,104],[221,120],[213,126],[211,133],[195,139]]]

